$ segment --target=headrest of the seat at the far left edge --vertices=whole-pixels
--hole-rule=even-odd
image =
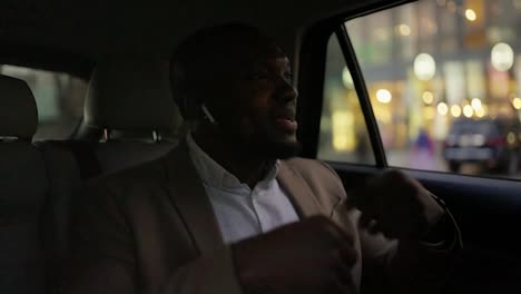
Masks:
[[[0,75],[0,137],[32,139],[38,110],[26,81]]]

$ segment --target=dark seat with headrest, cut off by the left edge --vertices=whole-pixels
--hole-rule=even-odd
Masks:
[[[38,124],[32,92],[0,76],[0,288],[45,293],[41,220],[48,190],[41,153],[31,144]]]

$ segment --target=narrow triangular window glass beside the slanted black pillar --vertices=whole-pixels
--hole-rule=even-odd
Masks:
[[[318,158],[375,165],[358,96],[334,35],[327,45],[322,109]]]

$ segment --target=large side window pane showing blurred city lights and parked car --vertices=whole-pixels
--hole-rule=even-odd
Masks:
[[[521,1],[422,0],[345,22],[390,166],[521,178]]]

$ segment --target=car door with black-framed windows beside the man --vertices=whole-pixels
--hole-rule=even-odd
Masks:
[[[444,199],[464,243],[445,293],[521,290],[520,174],[486,160],[455,174],[442,155],[456,118],[519,121],[518,2],[367,1],[302,38],[303,155],[330,163],[347,192],[395,168]]]

